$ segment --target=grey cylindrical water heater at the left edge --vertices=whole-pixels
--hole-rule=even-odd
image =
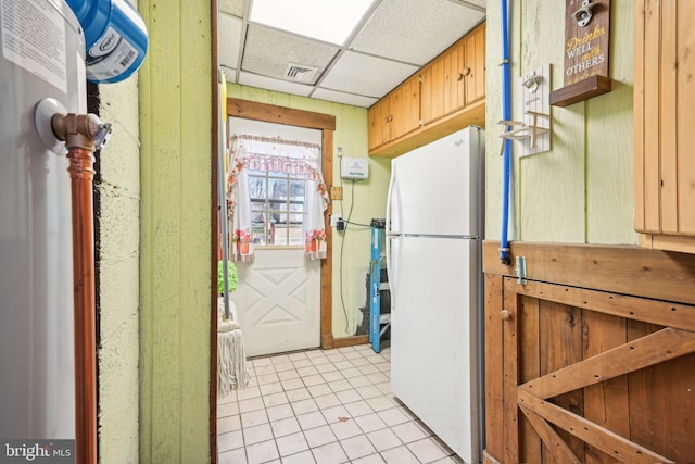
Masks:
[[[85,41],[62,0],[0,0],[0,440],[74,439],[68,162],[34,115],[86,112]]]

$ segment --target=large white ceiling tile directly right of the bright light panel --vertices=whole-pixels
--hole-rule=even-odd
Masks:
[[[351,49],[421,66],[485,17],[462,4],[450,0],[383,0]]]

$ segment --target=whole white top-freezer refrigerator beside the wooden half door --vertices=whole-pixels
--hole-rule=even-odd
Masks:
[[[466,463],[483,448],[484,133],[392,161],[387,204],[393,393]]]

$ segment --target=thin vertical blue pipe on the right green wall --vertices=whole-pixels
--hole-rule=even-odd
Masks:
[[[511,121],[511,84],[509,71],[509,2],[502,0],[502,118]],[[502,239],[500,261],[510,265],[509,256],[509,183],[511,180],[511,140],[504,139],[502,188]]]

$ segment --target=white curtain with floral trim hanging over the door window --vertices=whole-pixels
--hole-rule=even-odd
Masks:
[[[253,260],[249,170],[282,172],[306,179],[306,214],[302,225],[304,253],[311,260],[325,259],[327,247],[324,211],[330,199],[321,175],[321,147],[317,143],[245,134],[235,135],[230,147],[227,214],[231,222],[232,260]]]

